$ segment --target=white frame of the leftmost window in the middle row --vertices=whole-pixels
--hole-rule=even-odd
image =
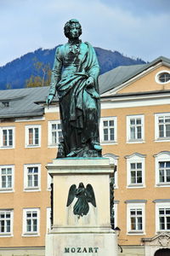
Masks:
[[[11,173],[11,187],[5,187],[3,188],[3,176],[9,176],[7,175],[3,175],[2,173],[2,169],[8,169],[10,168],[12,173]],[[8,181],[6,181],[8,183]],[[0,166],[0,193],[6,193],[6,192],[14,192],[14,166]]]

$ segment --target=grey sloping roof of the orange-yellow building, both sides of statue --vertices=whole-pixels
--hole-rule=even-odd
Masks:
[[[100,75],[100,94],[116,88],[160,61],[162,64],[170,65],[170,59],[161,56],[149,64],[116,67],[110,72]],[[44,108],[37,103],[44,103],[47,96],[48,87],[0,90],[0,118],[41,116],[44,113]],[[58,99],[55,97],[54,102],[57,101]],[[9,102],[9,107],[4,108],[2,102]]]

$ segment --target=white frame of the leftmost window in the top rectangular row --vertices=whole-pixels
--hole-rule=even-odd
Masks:
[[[3,145],[3,131],[4,130],[12,130],[12,137],[13,137],[13,144],[9,145],[9,143],[7,143],[7,145]],[[7,135],[9,136],[9,135]],[[8,141],[8,139],[7,139]],[[0,149],[10,149],[10,148],[14,148],[15,147],[15,127],[14,126],[3,126],[0,127]]]

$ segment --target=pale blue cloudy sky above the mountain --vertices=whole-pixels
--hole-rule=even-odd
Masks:
[[[170,0],[0,0],[0,67],[38,48],[65,44],[77,19],[82,41],[153,61],[170,58]]]

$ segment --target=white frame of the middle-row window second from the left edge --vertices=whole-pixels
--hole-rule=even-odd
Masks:
[[[37,186],[28,185],[28,168],[37,167]],[[34,175],[33,175],[34,176]],[[24,191],[26,192],[35,192],[41,190],[41,164],[29,164],[24,165]]]

